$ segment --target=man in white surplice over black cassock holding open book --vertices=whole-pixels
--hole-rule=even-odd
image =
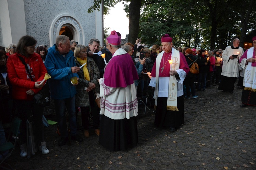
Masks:
[[[244,53],[243,48],[239,47],[239,44],[240,40],[235,38],[233,45],[228,46],[222,53],[223,66],[218,89],[223,90],[223,92],[233,93],[234,91],[234,83],[238,78],[240,67],[237,59]]]

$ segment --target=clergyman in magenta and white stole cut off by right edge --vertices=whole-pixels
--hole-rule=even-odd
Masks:
[[[240,107],[256,106],[256,36],[252,40],[253,47],[246,50],[239,59],[241,67],[245,70]]]

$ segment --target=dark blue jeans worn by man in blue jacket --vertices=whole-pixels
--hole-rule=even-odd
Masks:
[[[68,137],[67,123],[65,111],[68,111],[68,123],[70,134],[77,134],[76,130],[76,114],[75,114],[75,96],[67,99],[54,99],[56,114],[58,116],[59,131],[62,138]]]

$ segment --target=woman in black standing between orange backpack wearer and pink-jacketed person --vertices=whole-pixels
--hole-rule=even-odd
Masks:
[[[205,55],[205,50],[201,49],[199,54],[197,55],[198,60],[197,64],[199,66],[199,74],[198,74],[198,81],[197,81],[197,91],[205,91],[206,87],[206,75],[207,71],[209,71],[210,61],[207,60],[207,55]],[[201,86],[202,83],[202,86]]]

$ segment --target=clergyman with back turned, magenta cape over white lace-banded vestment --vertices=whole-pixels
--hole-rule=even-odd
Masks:
[[[111,150],[127,150],[138,143],[138,103],[134,80],[138,79],[130,55],[121,48],[121,34],[111,31],[106,47],[113,54],[99,79],[101,131],[99,143]]]

